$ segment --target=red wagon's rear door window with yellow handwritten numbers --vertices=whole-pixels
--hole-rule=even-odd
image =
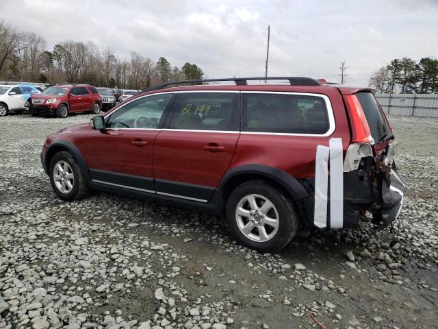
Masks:
[[[183,93],[170,129],[240,130],[238,93]]]

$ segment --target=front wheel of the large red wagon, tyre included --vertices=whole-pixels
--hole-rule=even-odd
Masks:
[[[68,151],[61,151],[53,156],[49,175],[53,190],[61,199],[73,201],[88,193],[81,169]]]

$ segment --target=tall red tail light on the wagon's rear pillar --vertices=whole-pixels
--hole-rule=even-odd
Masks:
[[[356,95],[345,95],[345,99],[350,111],[350,121],[352,129],[353,143],[372,143],[373,139],[368,125],[367,118],[363,112],[361,103]]]

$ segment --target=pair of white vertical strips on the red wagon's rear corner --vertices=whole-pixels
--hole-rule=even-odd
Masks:
[[[330,138],[329,147],[318,145],[316,148],[313,223],[318,228],[327,227],[329,157],[330,227],[342,228],[344,225],[344,162],[342,154],[342,138]]]

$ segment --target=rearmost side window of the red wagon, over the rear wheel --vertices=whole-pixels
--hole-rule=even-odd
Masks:
[[[322,97],[244,93],[244,132],[325,134],[329,115]]]

